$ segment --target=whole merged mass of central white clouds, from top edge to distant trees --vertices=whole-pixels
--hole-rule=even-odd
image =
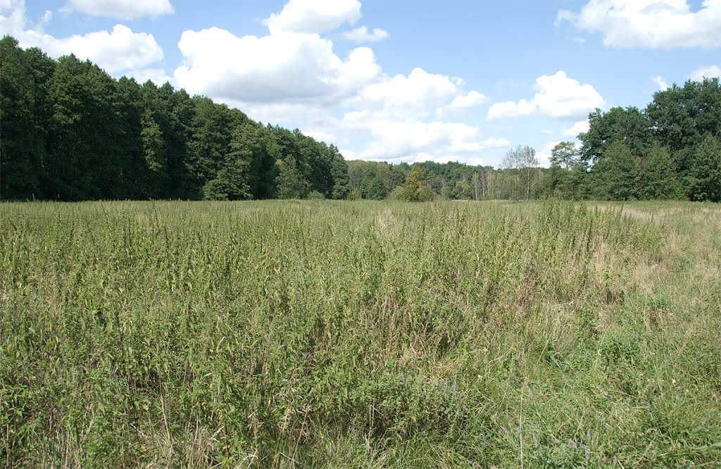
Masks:
[[[251,118],[301,126],[339,146],[347,158],[478,162],[484,150],[510,144],[473,126],[440,120],[487,102],[462,79],[420,68],[389,76],[368,47],[337,56],[322,33],[355,22],[360,6],[348,0],[291,0],[265,19],[268,34],[260,37],[237,37],[218,28],[185,31],[175,82],[191,94],[241,108]],[[359,27],[333,37],[387,35],[379,31]]]

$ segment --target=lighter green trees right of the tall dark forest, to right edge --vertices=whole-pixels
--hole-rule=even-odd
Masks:
[[[412,200],[404,184],[417,170],[408,186],[421,181],[430,190],[421,197],[424,200],[721,201],[719,79],[673,85],[655,93],[645,110],[596,109],[589,123],[588,132],[578,136],[580,149],[570,141],[557,144],[549,168],[539,167],[529,146],[510,149],[498,170],[459,163],[349,162],[351,194]],[[404,190],[396,190],[399,187]]]

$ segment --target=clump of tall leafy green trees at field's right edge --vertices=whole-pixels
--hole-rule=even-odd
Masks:
[[[589,122],[580,149],[553,149],[549,196],[721,201],[719,79],[674,84],[645,110],[597,109]]]

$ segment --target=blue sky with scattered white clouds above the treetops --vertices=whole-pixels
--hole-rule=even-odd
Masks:
[[[0,0],[0,35],[345,159],[548,165],[588,113],[721,76],[721,0]]]

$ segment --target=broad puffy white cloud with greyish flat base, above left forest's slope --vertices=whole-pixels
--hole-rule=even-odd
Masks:
[[[342,60],[317,34],[280,31],[238,38],[213,27],[182,33],[177,83],[191,93],[238,102],[337,102],[380,73],[373,51]]]

